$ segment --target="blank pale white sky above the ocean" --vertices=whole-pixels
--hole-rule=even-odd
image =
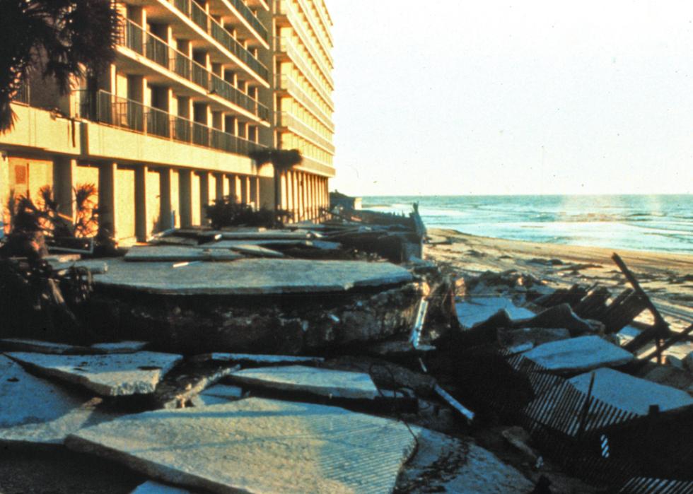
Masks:
[[[326,2],[331,189],[693,193],[693,1]]]

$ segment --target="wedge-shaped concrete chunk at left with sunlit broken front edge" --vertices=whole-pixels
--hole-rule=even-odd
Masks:
[[[112,355],[6,354],[42,375],[80,384],[101,396],[148,394],[182,357],[170,353],[137,352]]]

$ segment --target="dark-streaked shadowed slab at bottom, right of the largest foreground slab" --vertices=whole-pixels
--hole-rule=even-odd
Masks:
[[[470,440],[421,430],[417,454],[397,478],[397,492],[525,494],[532,483]]]

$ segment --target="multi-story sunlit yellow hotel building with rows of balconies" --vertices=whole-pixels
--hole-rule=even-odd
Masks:
[[[248,154],[298,148],[282,172],[294,220],[327,207],[332,167],[330,18],[322,0],[125,0],[110,71],[60,95],[35,76],[0,134],[0,199],[53,188],[74,214],[78,184],[98,187],[100,227],[116,240],[204,224],[221,196],[274,207],[274,169]],[[7,220],[5,216],[5,220]]]

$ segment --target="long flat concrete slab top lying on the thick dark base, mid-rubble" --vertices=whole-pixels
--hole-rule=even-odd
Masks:
[[[356,287],[412,281],[412,274],[387,262],[239,259],[172,268],[163,262],[111,261],[95,283],[163,295],[275,295],[342,292]]]

